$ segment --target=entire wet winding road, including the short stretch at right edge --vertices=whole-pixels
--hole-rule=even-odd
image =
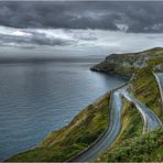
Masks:
[[[154,74],[154,76],[160,87],[163,106],[163,73]],[[141,113],[144,122],[143,133],[153,131],[155,128],[162,126],[161,120],[150,108],[148,108],[145,105],[135,99],[131,94],[129,94],[128,86],[115,89],[110,99],[110,124],[108,126],[106,132],[88,149],[72,157],[68,162],[90,162],[97,159],[98,155],[105,152],[112,144],[121,130],[121,111],[123,106],[121,96],[133,102]]]

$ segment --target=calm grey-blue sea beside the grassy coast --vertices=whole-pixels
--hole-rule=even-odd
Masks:
[[[0,65],[0,160],[37,144],[123,79],[89,70],[95,63]]]

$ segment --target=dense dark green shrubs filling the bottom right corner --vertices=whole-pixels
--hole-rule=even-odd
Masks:
[[[106,155],[108,162],[162,162],[163,128],[134,137],[117,145]]]

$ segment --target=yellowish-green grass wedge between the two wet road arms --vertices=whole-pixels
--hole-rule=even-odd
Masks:
[[[112,144],[110,149],[108,149],[104,154],[101,154],[96,161],[100,162],[117,162],[117,161],[126,161],[126,160],[119,160],[119,156],[123,156],[123,159],[127,159],[126,153],[123,153],[121,150],[119,151],[119,148],[121,144],[126,141],[131,141],[135,137],[140,137],[142,134],[142,120],[141,116],[138,112],[135,106],[132,102],[129,102],[124,99],[124,106],[122,110],[122,119],[121,119],[121,132],[118,135],[116,142]]]

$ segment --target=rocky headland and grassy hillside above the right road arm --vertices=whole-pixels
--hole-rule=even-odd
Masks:
[[[139,53],[111,54],[93,70],[130,76],[131,93],[163,120],[159,86],[153,76],[156,65],[163,64],[163,47]]]

